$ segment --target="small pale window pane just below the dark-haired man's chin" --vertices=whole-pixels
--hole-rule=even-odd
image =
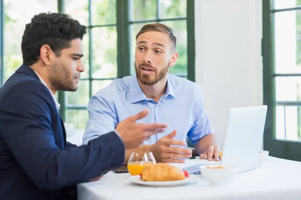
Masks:
[[[87,105],[90,99],[89,96],[89,80],[79,80],[76,91],[67,91],[67,104]]]

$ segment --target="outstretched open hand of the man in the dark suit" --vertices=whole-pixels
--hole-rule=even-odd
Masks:
[[[163,132],[167,124],[164,123],[136,123],[135,121],[145,117],[149,110],[144,109],[141,112],[129,116],[116,126],[116,131],[124,143],[126,149],[138,147],[144,140],[149,139],[150,135]]]

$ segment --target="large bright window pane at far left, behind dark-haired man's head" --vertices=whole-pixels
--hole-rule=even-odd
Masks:
[[[21,41],[25,25],[35,14],[57,12],[57,4],[53,0],[4,0],[4,81],[23,63]]]

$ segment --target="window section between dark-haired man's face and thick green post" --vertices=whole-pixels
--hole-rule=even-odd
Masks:
[[[66,121],[84,129],[91,95],[117,77],[116,0],[65,0],[64,7],[65,13],[88,27],[83,38],[86,70],[81,74],[78,90],[65,92],[65,106],[61,109]]]

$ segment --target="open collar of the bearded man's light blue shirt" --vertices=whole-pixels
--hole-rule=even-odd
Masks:
[[[165,98],[169,95],[173,96],[174,98],[176,97],[175,90],[173,88],[169,75],[167,77],[167,88],[164,95]],[[129,79],[129,102],[135,103],[144,99],[147,99],[147,97],[138,83],[137,76],[132,75],[131,78]]]

